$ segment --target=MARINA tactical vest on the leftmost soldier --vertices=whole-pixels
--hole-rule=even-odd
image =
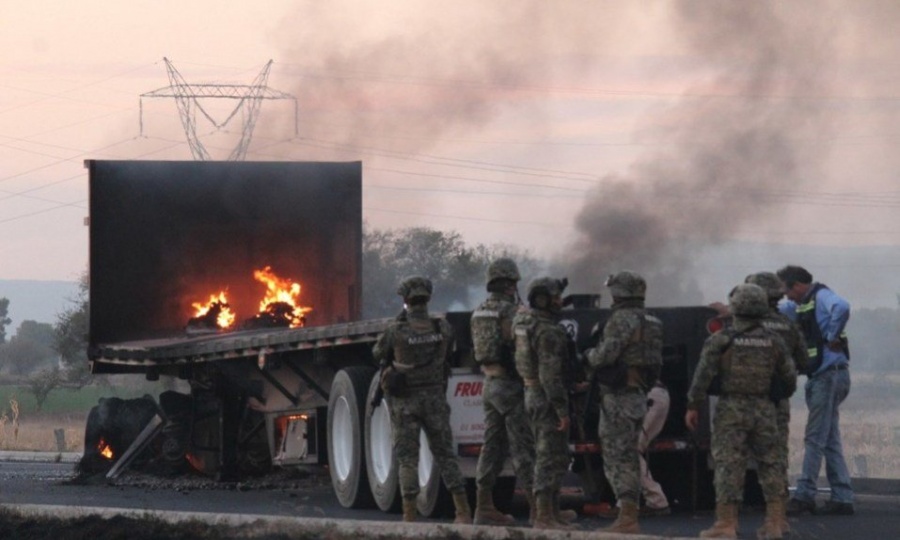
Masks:
[[[393,366],[406,376],[407,388],[444,384],[448,338],[437,318],[410,318],[396,326]]]

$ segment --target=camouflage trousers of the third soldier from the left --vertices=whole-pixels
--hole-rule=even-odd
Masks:
[[[569,433],[558,431],[559,417],[544,389],[525,388],[525,411],[534,433],[534,493],[557,493],[569,469]]]

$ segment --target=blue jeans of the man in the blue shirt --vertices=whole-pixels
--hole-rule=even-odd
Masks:
[[[839,426],[839,407],[850,393],[850,370],[829,370],[806,381],[806,407],[809,418],[806,421],[803,456],[803,470],[797,480],[794,497],[801,501],[812,501],[816,497],[816,481],[825,458],[825,475],[831,486],[831,500],[841,503],[853,502],[853,488],[850,487],[850,472],[844,461]]]

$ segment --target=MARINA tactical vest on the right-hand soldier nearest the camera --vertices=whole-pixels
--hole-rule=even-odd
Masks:
[[[731,339],[719,365],[721,394],[768,396],[775,359],[782,354],[774,339],[777,336],[763,326],[722,332],[728,332]]]

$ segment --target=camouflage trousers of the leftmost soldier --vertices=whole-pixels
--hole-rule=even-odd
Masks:
[[[419,494],[419,431],[428,437],[428,447],[451,492],[465,489],[466,483],[453,452],[450,406],[440,387],[412,391],[409,396],[388,398],[394,454],[397,456],[400,493]]]

